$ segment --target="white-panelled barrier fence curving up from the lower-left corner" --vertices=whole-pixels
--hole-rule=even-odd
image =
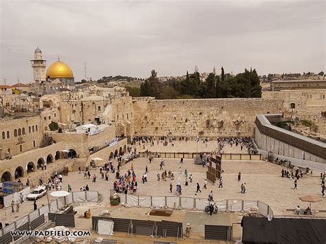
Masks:
[[[45,221],[48,221],[49,213],[56,213],[58,210],[63,210],[65,206],[71,203],[85,201],[97,202],[99,199],[100,195],[97,191],[72,192],[72,194],[67,195],[66,197],[59,197],[58,199],[51,201],[50,204],[42,206],[41,208],[34,210],[30,214],[21,217],[21,219],[18,219],[17,221],[14,221],[10,223],[10,225],[4,227],[0,232],[0,238],[1,236],[10,233],[10,231],[19,230],[19,228],[26,223],[29,224],[29,230],[34,230],[34,223],[36,219],[44,216]]]

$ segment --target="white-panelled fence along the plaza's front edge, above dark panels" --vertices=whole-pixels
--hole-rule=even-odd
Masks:
[[[139,195],[124,195],[118,193],[121,203],[141,208],[174,208],[186,210],[205,210],[208,199],[195,197],[153,197]],[[261,201],[228,199],[215,201],[219,212],[250,212],[250,208],[258,207],[259,214],[264,217],[273,217],[273,211],[268,204]]]

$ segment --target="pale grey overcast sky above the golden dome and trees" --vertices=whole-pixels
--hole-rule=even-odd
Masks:
[[[237,74],[325,71],[325,1],[0,0],[0,84],[33,79],[39,46],[76,81],[102,76],[182,76],[221,65]]]

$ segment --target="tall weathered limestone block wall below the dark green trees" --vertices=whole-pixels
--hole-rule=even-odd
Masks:
[[[133,102],[135,136],[253,136],[259,113],[277,113],[281,100],[261,98],[154,100]]]

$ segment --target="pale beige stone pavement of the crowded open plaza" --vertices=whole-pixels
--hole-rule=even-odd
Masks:
[[[212,147],[214,143],[215,142],[211,142]],[[184,148],[186,151],[191,151],[193,150],[193,144],[195,144],[195,142],[180,143],[179,150],[181,150],[180,148]],[[202,146],[204,146],[204,144]],[[161,145],[160,148],[157,149],[161,148],[166,147]],[[227,146],[225,151],[226,153],[230,151],[239,153],[239,148],[230,148],[230,146]],[[180,177],[182,182],[182,196],[184,197],[194,197],[195,194],[197,194],[197,197],[199,198],[207,198],[210,190],[213,190],[215,201],[221,201],[224,199],[259,200],[270,205],[275,215],[281,215],[283,209],[285,208],[296,208],[297,205],[301,206],[301,208],[306,208],[309,203],[303,203],[298,199],[298,197],[311,194],[318,195],[320,196],[320,199],[322,199],[322,201],[318,203],[312,203],[312,208],[326,210],[326,198],[321,197],[320,194],[321,188],[319,177],[304,175],[303,179],[298,180],[298,190],[293,190],[293,180],[281,177],[282,166],[277,166],[264,161],[223,160],[222,169],[224,170],[224,173],[222,174],[222,177],[224,179],[224,188],[218,188],[218,184],[215,184],[215,186],[208,184],[207,189],[202,188],[202,192],[196,193],[196,183],[199,182],[201,187],[204,185],[206,168],[195,165],[193,163],[193,159],[184,159],[184,164],[180,164],[180,159],[166,159],[165,162],[164,170],[172,170],[172,172],[175,174],[174,181],[171,181],[171,179],[167,179],[166,181],[162,181],[161,179],[160,181],[157,181],[157,173],[162,174],[163,171],[160,170],[160,159],[157,158],[155,158],[154,162],[151,164],[149,164],[149,160],[146,158],[135,159],[132,162],[129,162],[127,165],[122,166],[121,173],[127,172],[131,166],[131,163],[133,164],[138,180],[138,195],[173,196],[175,195],[176,181],[178,177]],[[115,161],[114,164],[116,166],[117,162]],[[145,166],[148,166],[149,168],[149,180],[145,184],[142,184],[141,177],[144,173]],[[179,173],[180,166],[182,166],[181,174]],[[188,171],[188,176],[193,174],[193,183],[190,183],[189,186],[184,186],[185,169]],[[241,172],[240,182],[237,181],[237,174],[239,171]],[[101,208],[98,208],[98,210],[96,210],[96,207],[92,206],[91,211],[94,211],[94,214],[104,209],[109,209],[110,212],[115,212],[117,207],[111,208],[111,206],[109,206],[109,192],[110,189],[113,188],[113,181],[115,180],[113,179],[114,175],[110,173],[109,181],[105,181],[104,179],[100,179],[98,169],[91,169],[91,175],[94,174],[98,176],[96,183],[92,182],[91,179],[84,179],[83,173],[80,175],[77,171],[70,172],[68,176],[63,177],[63,190],[67,190],[68,183],[72,186],[73,191],[78,191],[81,187],[88,184],[90,190],[98,190],[98,192],[103,195],[103,202],[101,204],[105,205],[104,207],[102,206]],[[318,173],[316,172],[314,175],[318,175]],[[243,195],[240,192],[240,186],[241,183],[245,182],[247,191],[246,194]],[[173,184],[173,193],[169,192],[170,183]],[[52,199],[54,199],[54,197],[50,196],[50,201],[52,201]],[[42,204],[47,203],[47,198],[42,197],[37,201],[37,203],[38,206],[41,207]],[[14,212],[13,214],[11,214],[10,208],[0,210],[0,221],[2,223],[11,223],[17,218],[23,217],[32,212],[32,205],[32,201],[25,201],[21,206],[21,212]],[[85,209],[88,208],[87,206],[84,207]],[[80,212],[83,212],[83,210],[84,209],[80,207]],[[147,210],[148,209],[142,208],[128,208],[126,210],[120,209],[116,211],[115,214],[117,217],[146,217]],[[185,213],[186,211],[180,211],[180,213],[175,215],[175,220],[180,219],[180,221],[184,221],[183,214]],[[85,226],[86,225],[90,226],[88,222],[85,223]]]

